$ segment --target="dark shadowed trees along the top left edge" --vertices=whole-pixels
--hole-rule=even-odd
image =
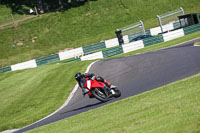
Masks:
[[[6,5],[13,13],[27,14],[30,9],[37,9],[42,14],[51,11],[64,11],[69,8],[84,5],[96,0],[0,0],[0,5]]]

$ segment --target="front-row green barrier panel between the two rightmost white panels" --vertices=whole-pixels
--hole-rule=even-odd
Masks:
[[[163,42],[163,41],[164,41],[163,36],[158,35],[158,36],[153,36],[153,37],[144,39],[143,43],[144,43],[144,46],[146,47],[146,46],[156,44],[156,43],[160,43],[160,42]]]

